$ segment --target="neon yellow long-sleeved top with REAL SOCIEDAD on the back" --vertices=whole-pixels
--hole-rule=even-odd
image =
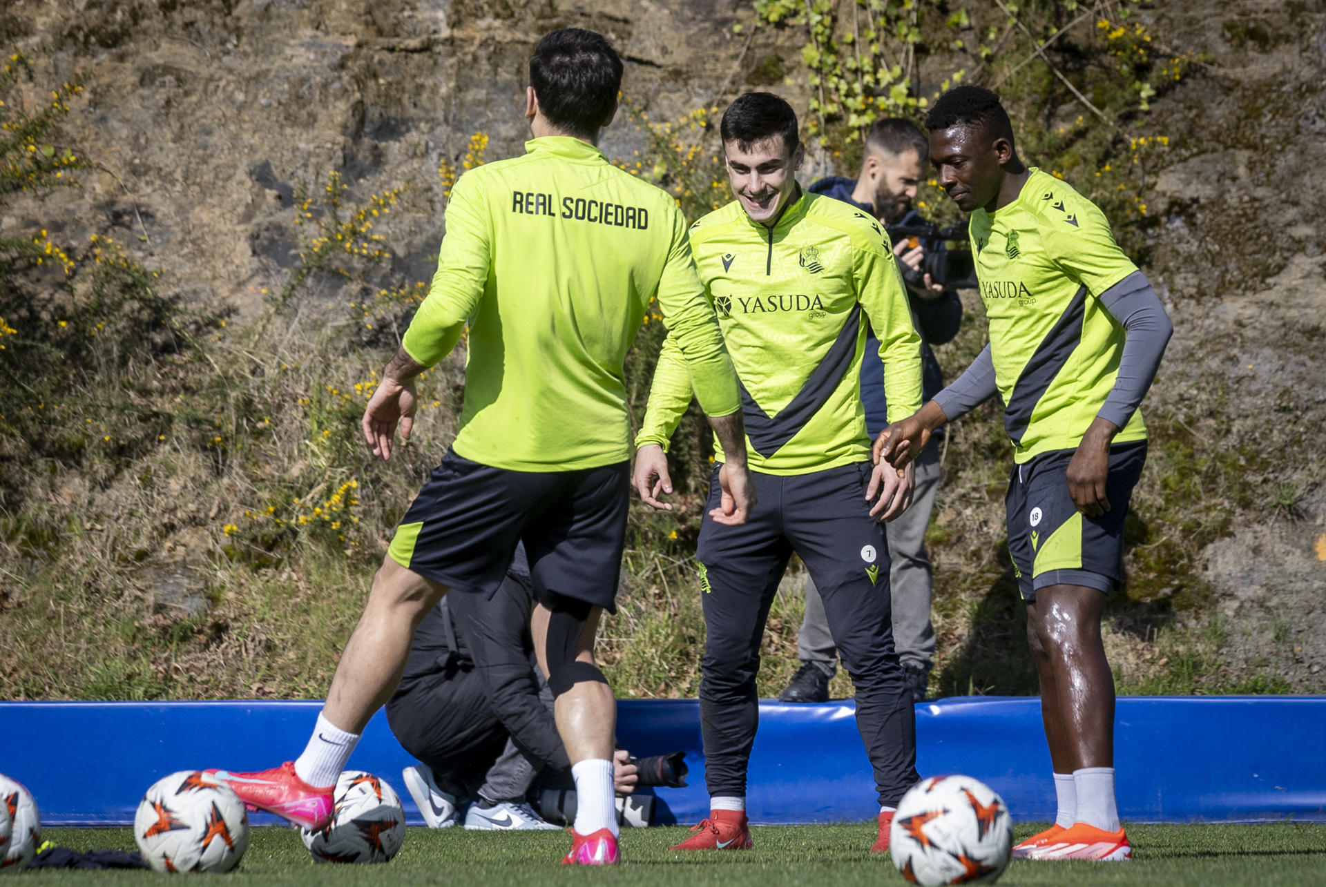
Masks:
[[[695,377],[701,408],[740,408],[713,306],[676,202],[579,139],[456,180],[432,289],[403,347],[432,366],[469,325],[452,449],[513,471],[630,459],[622,362],[650,300]]]

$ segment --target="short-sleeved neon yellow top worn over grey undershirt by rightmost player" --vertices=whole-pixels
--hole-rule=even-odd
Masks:
[[[1101,296],[1138,266],[1094,203],[1034,167],[1010,204],[973,212],[969,232],[1013,457],[1075,449],[1123,355]],[[1146,436],[1139,410],[1114,440]]]

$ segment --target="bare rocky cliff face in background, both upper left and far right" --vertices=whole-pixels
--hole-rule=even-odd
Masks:
[[[1244,489],[1216,541],[1203,526],[1170,530],[1200,540],[1189,554],[1212,595],[1187,606],[1233,628],[1232,662],[1280,651],[1276,667],[1301,688],[1319,687],[1326,666],[1323,7],[1142,11],[1211,53],[1151,111],[1172,150],[1152,171],[1146,270],[1176,335],[1148,404],[1172,418],[1175,445],[1235,453]],[[13,204],[0,232],[118,231],[184,298],[249,313],[294,263],[296,180],[337,170],[365,192],[411,186],[410,209],[382,231],[392,257],[381,273],[427,280],[439,159],[456,160],[477,130],[492,156],[518,150],[538,36],[568,24],[607,33],[629,62],[626,91],[675,117],[794,69],[776,33],[732,33],[748,16],[735,0],[9,0],[0,44],[48,48],[41,65],[56,77],[88,72],[68,131],[103,171]],[[780,89],[804,103],[790,81]],[[610,155],[642,146],[630,126],[607,131]]]

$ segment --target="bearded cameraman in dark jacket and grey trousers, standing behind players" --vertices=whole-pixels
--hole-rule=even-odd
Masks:
[[[861,163],[858,178],[829,176],[813,183],[809,191],[845,200],[886,225],[924,221],[912,208],[912,202],[930,162],[926,134],[906,118],[882,117],[870,126],[865,148],[866,158]],[[899,239],[894,244],[894,256],[900,263],[907,302],[922,337],[922,399],[928,400],[944,387],[943,370],[930,346],[943,345],[957,335],[963,322],[963,302],[957,293],[935,284],[930,274],[920,270],[926,259],[923,245],[912,247],[906,239]],[[888,424],[883,367],[878,354],[879,342],[871,331],[866,337],[866,354],[861,361],[861,402],[866,407],[866,431],[871,438]],[[930,618],[934,574],[930,553],[926,550],[926,528],[930,526],[930,514],[939,492],[940,439],[940,435],[931,438],[914,463],[916,487],[911,508],[888,522],[894,646],[916,701],[926,697],[935,658],[935,627]],[[785,703],[827,700],[829,680],[838,671],[838,648],[813,579],[806,581],[806,613],[797,634],[797,658],[801,668],[780,699]]]

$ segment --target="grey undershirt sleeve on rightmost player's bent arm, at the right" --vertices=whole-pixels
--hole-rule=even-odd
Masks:
[[[1140,270],[1101,293],[1101,305],[1123,325],[1124,338],[1119,375],[1097,415],[1123,428],[1156,378],[1174,325],[1151,281]]]

